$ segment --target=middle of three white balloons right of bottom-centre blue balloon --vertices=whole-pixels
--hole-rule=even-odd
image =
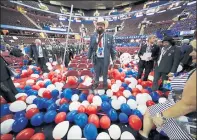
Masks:
[[[112,139],[117,140],[120,138],[121,130],[118,125],[112,124],[110,128],[108,129],[109,135]]]

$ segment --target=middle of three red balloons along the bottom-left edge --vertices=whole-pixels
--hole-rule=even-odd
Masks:
[[[35,130],[32,128],[26,128],[17,134],[16,140],[27,140],[34,135]]]

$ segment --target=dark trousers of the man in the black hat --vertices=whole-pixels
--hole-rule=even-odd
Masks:
[[[162,83],[165,81],[165,80],[168,80],[168,73],[163,73],[163,72],[159,72],[158,71],[158,67],[155,68],[155,71],[154,71],[154,80],[153,80],[153,87],[152,87],[152,90],[153,91],[156,91],[159,89],[159,84],[158,84],[158,81],[160,80],[160,78],[162,78]]]

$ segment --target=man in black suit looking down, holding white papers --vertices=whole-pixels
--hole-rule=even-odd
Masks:
[[[152,71],[154,66],[154,61],[157,60],[159,56],[159,47],[155,45],[156,37],[154,35],[151,35],[148,37],[148,41],[146,44],[141,46],[141,49],[138,53],[138,56],[140,58],[139,64],[138,64],[138,77],[137,79],[141,79],[142,73],[145,69],[145,74],[143,81],[147,81],[149,73]],[[143,59],[144,53],[150,53],[151,57],[147,58],[147,60]]]

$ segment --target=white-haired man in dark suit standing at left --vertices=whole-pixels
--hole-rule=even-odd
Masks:
[[[36,39],[35,44],[30,46],[30,58],[34,59],[36,65],[39,66],[43,72],[49,72],[46,66],[48,54],[44,45],[41,45],[41,40]]]

